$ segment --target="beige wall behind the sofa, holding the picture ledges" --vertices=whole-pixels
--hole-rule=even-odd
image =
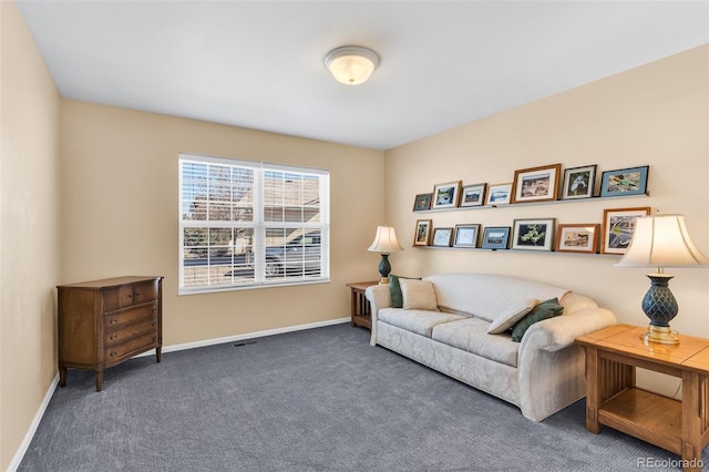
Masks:
[[[649,206],[682,213],[709,255],[709,47],[613,75],[387,152],[387,219],[404,253],[394,274],[490,271],[530,276],[589,295],[623,322],[647,325],[640,300],[650,269],[614,267],[619,256],[412,248],[418,218],[433,226],[512,226],[514,218],[600,223],[604,208]],[[599,173],[650,165],[649,197],[595,198],[506,208],[412,213],[414,195],[436,183],[512,182],[514,171],[562,163]],[[709,337],[709,270],[667,269],[682,334]],[[672,383],[672,393],[677,383]]]

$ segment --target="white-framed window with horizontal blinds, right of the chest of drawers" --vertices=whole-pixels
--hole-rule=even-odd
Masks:
[[[327,171],[179,155],[179,293],[329,278]]]

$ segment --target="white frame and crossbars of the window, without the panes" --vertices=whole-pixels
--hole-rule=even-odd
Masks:
[[[194,162],[202,164],[214,164],[230,167],[248,167],[254,172],[254,215],[251,222],[243,220],[189,220],[183,219],[183,163]],[[267,222],[265,220],[264,205],[264,174],[267,172],[286,172],[317,176],[319,181],[319,222]],[[225,290],[254,289],[266,287],[282,287],[302,284],[321,284],[330,281],[330,175],[327,170],[297,167],[290,165],[270,164],[264,162],[242,161],[235,158],[205,156],[196,154],[181,153],[178,156],[178,219],[179,219],[179,247],[178,247],[178,295],[205,294]],[[254,232],[254,279],[240,283],[224,283],[185,286],[185,228],[251,228]],[[320,273],[319,276],[308,277],[285,277],[282,279],[267,279],[265,275],[266,261],[266,229],[312,229],[320,232]],[[207,245],[208,247],[208,245]],[[216,278],[215,278],[216,280]]]

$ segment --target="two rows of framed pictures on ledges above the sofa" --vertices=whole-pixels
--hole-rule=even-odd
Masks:
[[[432,193],[415,196],[413,212],[458,212],[649,195],[648,173],[648,165],[604,171],[597,184],[595,164],[564,170],[562,164],[530,167],[515,171],[510,183],[453,181],[435,184]],[[466,223],[435,227],[432,218],[420,218],[415,223],[413,246],[621,255],[633,237],[635,219],[648,216],[650,207],[613,206],[604,209],[603,222],[574,224],[564,224],[557,218],[515,218],[510,226]]]

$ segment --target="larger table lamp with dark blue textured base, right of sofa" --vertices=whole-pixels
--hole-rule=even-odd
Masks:
[[[677,331],[669,321],[679,307],[669,289],[674,277],[665,274],[665,267],[707,267],[709,259],[701,254],[689,237],[682,215],[643,216],[635,220],[630,246],[616,266],[657,267],[656,274],[647,274],[650,288],[643,298],[643,311],[650,319],[646,342],[678,345]]]

